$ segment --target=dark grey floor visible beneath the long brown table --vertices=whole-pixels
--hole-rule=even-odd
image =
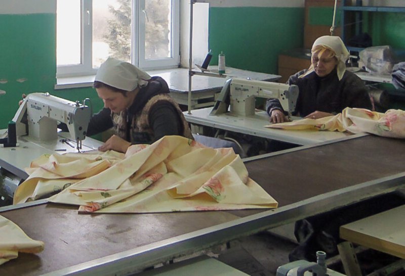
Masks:
[[[294,223],[291,223],[231,241],[227,245],[220,245],[196,255],[205,254],[217,258],[251,276],[276,276],[277,268],[290,262],[289,254],[297,245],[294,237]],[[387,269],[384,273],[375,275],[405,275],[405,260],[400,261],[393,256],[364,248],[357,248],[356,251],[359,252],[357,258],[363,275],[394,262],[401,262],[402,269],[394,272],[391,268],[391,272]],[[175,260],[177,261],[181,260]],[[339,256],[328,258],[327,265],[330,269],[344,273]]]

